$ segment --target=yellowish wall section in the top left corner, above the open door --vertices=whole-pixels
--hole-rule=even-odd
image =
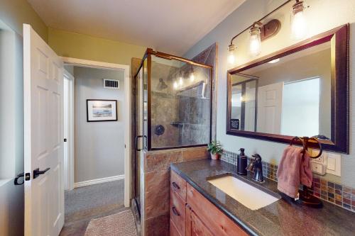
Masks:
[[[26,0],[0,0],[0,20],[19,35],[22,35],[23,23],[31,24],[40,37],[48,41],[48,27]]]

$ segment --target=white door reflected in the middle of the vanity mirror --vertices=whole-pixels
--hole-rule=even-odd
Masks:
[[[280,134],[283,82],[258,87],[257,131]]]

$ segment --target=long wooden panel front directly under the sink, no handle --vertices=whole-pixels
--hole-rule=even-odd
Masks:
[[[208,225],[212,235],[247,235],[239,225],[236,225],[233,220],[224,215],[221,210],[204,198],[190,184],[187,184],[187,204],[204,225]]]

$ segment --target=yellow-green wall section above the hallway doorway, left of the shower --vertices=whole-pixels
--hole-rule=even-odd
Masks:
[[[143,57],[146,47],[48,29],[48,44],[62,57],[75,57],[99,62],[131,64],[132,57]]]

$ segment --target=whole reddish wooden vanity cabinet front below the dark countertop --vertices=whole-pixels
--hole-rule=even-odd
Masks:
[[[178,174],[171,171],[170,236],[173,235],[248,234]]]

